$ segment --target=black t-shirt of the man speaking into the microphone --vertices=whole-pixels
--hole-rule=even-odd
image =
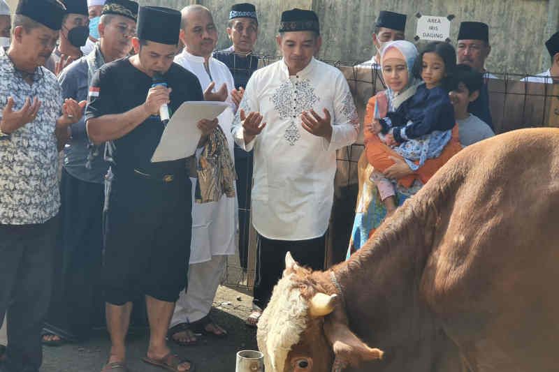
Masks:
[[[203,101],[198,78],[177,64],[172,64],[164,80],[173,90],[170,93],[170,114],[185,101]],[[119,59],[101,67],[89,88],[85,119],[107,114],[122,114],[145,102],[152,87],[152,77],[132,66],[129,58]],[[112,172],[131,172],[134,169],[147,174],[163,174],[184,170],[184,160],[151,163],[159,144],[164,124],[159,117],[148,117],[142,124],[118,140],[108,142],[107,160]]]

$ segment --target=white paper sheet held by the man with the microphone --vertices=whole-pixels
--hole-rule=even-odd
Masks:
[[[170,118],[152,156],[152,163],[194,155],[202,132],[196,124],[213,120],[229,105],[224,102],[184,102]]]

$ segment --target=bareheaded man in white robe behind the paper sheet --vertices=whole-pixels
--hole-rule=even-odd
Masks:
[[[200,31],[201,30],[201,31]],[[194,73],[203,88],[207,100],[226,101],[231,107],[221,114],[219,126],[224,131],[228,149],[233,159],[233,136],[231,124],[235,104],[229,92],[235,89],[233,75],[221,61],[212,57],[217,43],[217,30],[212,15],[202,6],[187,6],[182,10],[181,40],[185,47],[175,57],[175,63]],[[195,200],[196,178],[192,181],[192,199]],[[192,239],[189,261],[187,292],[182,292],[170,322],[171,338],[178,343],[193,343],[191,331],[225,335],[226,332],[208,317],[215,292],[221,282],[226,266],[226,256],[234,255],[236,249],[237,198],[222,198],[217,202],[192,204]],[[178,327],[177,327],[178,326]],[[173,329],[173,327],[175,327]]]

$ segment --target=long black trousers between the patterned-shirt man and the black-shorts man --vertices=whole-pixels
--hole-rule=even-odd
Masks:
[[[45,330],[70,340],[89,337],[103,325],[103,184],[81,181],[62,170],[55,285]]]

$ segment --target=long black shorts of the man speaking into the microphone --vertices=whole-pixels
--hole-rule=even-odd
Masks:
[[[122,306],[142,295],[176,302],[187,285],[191,183],[113,176],[106,183],[103,292]]]

